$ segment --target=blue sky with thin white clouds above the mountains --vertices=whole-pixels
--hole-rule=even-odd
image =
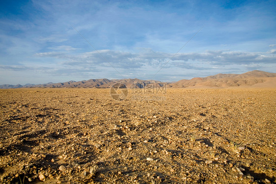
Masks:
[[[0,84],[276,72],[275,0],[0,0]]]

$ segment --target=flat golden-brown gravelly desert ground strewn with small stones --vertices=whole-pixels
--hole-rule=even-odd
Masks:
[[[275,183],[275,94],[1,90],[0,183]]]

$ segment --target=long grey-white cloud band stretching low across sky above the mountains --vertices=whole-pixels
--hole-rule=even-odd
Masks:
[[[105,59],[99,54],[103,55]],[[203,53],[178,53],[174,54],[155,52],[151,49],[144,49],[143,52],[121,52],[114,50],[99,50],[85,52],[77,55],[68,55],[61,52],[37,53],[36,57],[56,58],[62,60],[63,65],[106,65],[112,63],[118,68],[141,68],[145,65],[161,67],[169,59],[170,67],[180,67],[179,63],[194,62],[209,63],[214,65],[231,65],[231,64],[251,64],[251,63],[275,63],[276,55],[274,52],[238,52],[238,51],[206,51]],[[176,62],[177,61],[177,62]],[[184,67],[184,65],[182,66]]]

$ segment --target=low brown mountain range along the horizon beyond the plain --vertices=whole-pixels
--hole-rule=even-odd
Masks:
[[[90,79],[83,81],[68,81],[63,83],[47,83],[47,84],[26,84],[18,85],[0,85],[0,89],[16,89],[16,88],[110,88],[116,83],[122,83],[127,88],[143,88],[148,84],[160,84],[161,81],[140,80],[140,79]],[[239,86],[255,86],[255,87],[276,87],[276,73],[269,73],[259,70],[249,71],[243,74],[217,74],[208,77],[195,77],[191,80],[180,80],[173,83],[165,83],[167,88],[228,88]]]

